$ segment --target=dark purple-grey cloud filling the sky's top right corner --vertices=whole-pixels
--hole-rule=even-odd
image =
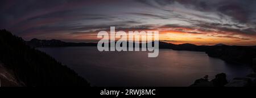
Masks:
[[[217,11],[222,14],[231,16],[233,19],[240,22],[248,22],[252,15],[256,12],[256,1],[254,0],[138,0],[149,6],[170,6],[174,2],[178,2],[187,7],[193,7],[195,10],[200,11]]]

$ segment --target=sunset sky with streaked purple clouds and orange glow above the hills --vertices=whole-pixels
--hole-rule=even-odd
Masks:
[[[254,0],[2,0],[0,29],[24,40],[97,41],[99,31],[159,31],[174,44],[256,45]]]

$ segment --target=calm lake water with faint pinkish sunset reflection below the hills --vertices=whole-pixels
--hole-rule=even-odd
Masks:
[[[228,80],[252,72],[204,52],[160,49],[148,52],[98,52],[97,47],[38,48],[75,70],[93,86],[189,86],[196,79],[226,73]]]

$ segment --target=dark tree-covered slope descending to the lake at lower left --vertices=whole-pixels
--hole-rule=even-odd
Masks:
[[[89,86],[75,71],[4,29],[0,30],[0,47],[0,61],[25,86]]]

